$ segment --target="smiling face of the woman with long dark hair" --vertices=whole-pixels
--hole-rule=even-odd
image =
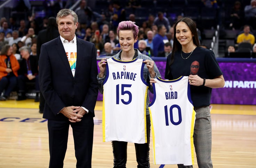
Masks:
[[[185,22],[181,21],[176,26],[176,38],[182,46],[189,46],[193,44],[193,34],[186,25]]]

